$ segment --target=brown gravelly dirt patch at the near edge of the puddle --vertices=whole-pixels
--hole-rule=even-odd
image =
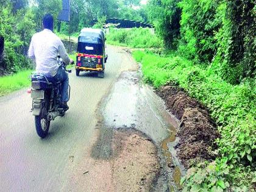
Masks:
[[[113,149],[119,154],[112,160],[115,190],[151,191],[160,168],[151,140],[140,132],[116,130]]]

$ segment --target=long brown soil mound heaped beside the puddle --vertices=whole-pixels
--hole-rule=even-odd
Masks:
[[[219,133],[205,107],[174,86],[162,87],[157,94],[165,100],[168,110],[181,121],[177,133],[180,137],[177,154],[182,163],[189,168],[191,162],[215,158],[212,149]]]

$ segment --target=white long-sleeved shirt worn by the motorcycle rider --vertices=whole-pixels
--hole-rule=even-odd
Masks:
[[[69,57],[62,40],[51,30],[44,29],[33,35],[28,56],[35,59],[36,71],[38,73],[55,76],[59,69],[59,64],[57,63],[58,55],[62,57],[63,62],[69,63]]]

